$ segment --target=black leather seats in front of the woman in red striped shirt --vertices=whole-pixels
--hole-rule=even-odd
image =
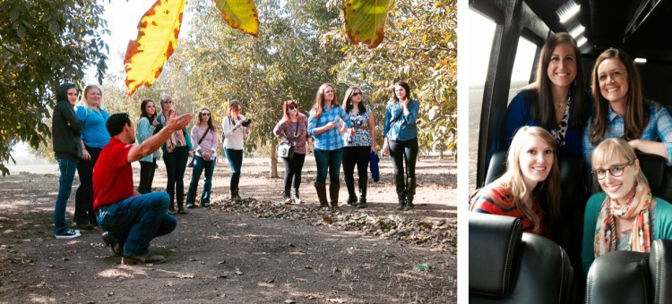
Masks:
[[[503,215],[469,215],[470,303],[567,303],[573,268],[560,246]]]

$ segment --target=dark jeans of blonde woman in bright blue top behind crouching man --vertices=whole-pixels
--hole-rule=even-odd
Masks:
[[[82,160],[77,164],[80,187],[74,194],[74,222],[96,224],[96,213],[93,210],[93,166],[96,165],[102,148],[84,147],[89,151],[91,159]]]

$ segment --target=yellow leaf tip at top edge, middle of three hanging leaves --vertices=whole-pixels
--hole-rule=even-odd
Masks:
[[[212,0],[231,28],[259,36],[259,13],[252,0]]]

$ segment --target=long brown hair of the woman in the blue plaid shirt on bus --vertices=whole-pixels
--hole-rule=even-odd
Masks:
[[[639,139],[649,124],[650,108],[642,95],[642,78],[633,60],[624,51],[609,48],[599,55],[592,69],[592,98],[595,100],[595,115],[590,125],[590,143],[597,146],[609,129],[609,101],[602,97],[599,89],[599,64],[615,58],[625,66],[628,73],[628,92],[625,94],[624,139]]]

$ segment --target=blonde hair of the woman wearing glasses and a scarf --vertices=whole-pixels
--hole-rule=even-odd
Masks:
[[[625,158],[626,162],[633,163],[633,165],[634,161],[637,160],[637,156],[634,154],[634,149],[630,147],[630,144],[628,144],[625,139],[605,139],[599,143],[598,147],[592,152],[590,162],[592,164],[592,170],[598,169],[618,156]],[[642,169],[635,175],[634,180],[637,181],[637,184],[649,185],[649,181],[646,180],[646,176],[642,172]],[[595,181],[597,182],[597,177]]]

